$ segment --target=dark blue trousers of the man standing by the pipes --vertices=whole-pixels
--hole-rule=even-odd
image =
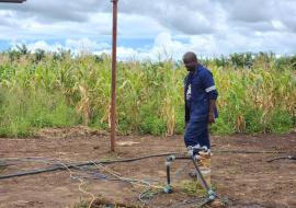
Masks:
[[[207,120],[190,122],[184,136],[185,146],[206,146],[210,149]]]

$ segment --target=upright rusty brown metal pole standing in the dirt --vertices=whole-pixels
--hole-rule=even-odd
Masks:
[[[117,2],[113,3],[113,30],[112,30],[112,83],[111,83],[111,151],[115,151],[115,130],[116,130],[116,41],[117,41]]]

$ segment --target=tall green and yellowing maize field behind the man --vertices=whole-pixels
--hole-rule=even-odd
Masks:
[[[215,134],[275,132],[296,126],[296,56],[234,54],[202,60],[219,92]],[[127,61],[117,67],[117,131],[182,134],[183,66]],[[0,136],[79,124],[109,129],[110,57],[70,51],[0,54]]]

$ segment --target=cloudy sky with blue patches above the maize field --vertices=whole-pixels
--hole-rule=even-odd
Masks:
[[[119,0],[121,59],[296,54],[296,0]],[[111,53],[110,0],[0,3],[0,50]]]

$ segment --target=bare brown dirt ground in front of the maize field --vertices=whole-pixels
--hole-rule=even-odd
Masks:
[[[37,137],[26,139],[2,138],[0,139],[0,175],[50,165],[37,161],[1,163],[1,159],[7,158],[38,157],[66,163],[185,151],[182,136],[168,138],[118,136],[117,141],[116,153],[110,153],[109,136],[84,127],[44,129]],[[215,136],[212,137],[212,143],[214,152],[212,182],[218,195],[228,199],[227,207],[296,207],[296,161],[266,162],[280,155],[296,154],[295,132],[285,136]],[[221,153],[218,152],[220,150],[283,151],[286,153]],[[124,177],[150,180],[151,184],[164,185],[164,157],[152,158],[130,163],[110,164],[106,167]],[[186,171],[181,172],[185,163],[187,162],[173,163],[173,185],[186,177],[184,173]],[[181,174],[175,174],[178,171]],[[77,176],[77,171],[71,172],[72,176]],[[82,172],[79,173],[81,176]],[[102,170],[101,173],[109,175]],[[81,180],[83,180],[82,184]],[[92,200],[93,197],[83,190],[106,201],[130,206],[143,205],[137,198],[139,190],[144,190],[139,186],[118,181],[82,177],[79,181],[71,178],[68,170],[0,180],[0,208],[73,208],[78,207],[78,204],[82,205],[82,201]],[[157,195],[151,201],[151,207],[182,207],[178,203],[192,199],[194,196],[182,188],[175,188],[173,194]],[[187,207],[190,206],[192,205]]]

